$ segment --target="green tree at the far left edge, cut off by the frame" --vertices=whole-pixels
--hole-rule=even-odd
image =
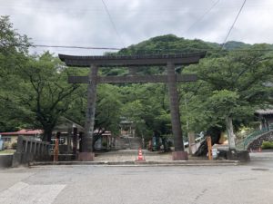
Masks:
[[[30,124],[24,121],[28,113],[14,97],[22,81],[19,70],[27,62],[29,39],[18,34],[8,16],[0,16],[0,130],[15,131]]]

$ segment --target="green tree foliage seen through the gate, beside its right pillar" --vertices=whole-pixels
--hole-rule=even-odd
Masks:
[[[171,132],[166,84],[131,84],[120,88],[122,116],[136,125],[136,135],[151,139],[153,134]]]

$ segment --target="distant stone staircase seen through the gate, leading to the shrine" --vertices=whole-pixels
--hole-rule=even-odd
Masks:
[[[141,147],[141,139],[137,137],[117,137],[116,150],[137,150]]]

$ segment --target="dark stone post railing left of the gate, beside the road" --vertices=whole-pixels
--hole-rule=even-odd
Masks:
[[[35,139],[19,136],[13,158],[13,167],[27,164],[34,160],[49,160],[49,150],[49,142],[37,141]]]

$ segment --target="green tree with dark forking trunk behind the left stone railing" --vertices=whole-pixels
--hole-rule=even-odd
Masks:
[[[33,112],[35,127],[44,130],[43,141],[51,141],[58,120],[76,99],[78,85],[67,83],[67,75],[72,71],[52,54],[44,53],[31,58],[20,72],[24,81],[16,97]],[[25,92],[22,92],[23,89]]]

